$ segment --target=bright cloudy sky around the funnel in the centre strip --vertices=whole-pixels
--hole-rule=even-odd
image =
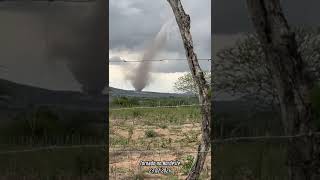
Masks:
[[[211,57],[211,1],[182,0],[191,18],[191,33],[198,58]],[[160,30],[172,21],[167,41],[154,59],[185,58],[181,36],[173,12],[166,0],[110,0],[109,1],[109,59],[112,61],[141,60],[144,50]],[[109,85],[134,89],[126,75],[138,63],[109,63]],[[210,71],[210,61],[200,61]],[[151,83],[144,89],[155,92],[175,92],[174,82],[189,71],[187,61],[154,62]]]

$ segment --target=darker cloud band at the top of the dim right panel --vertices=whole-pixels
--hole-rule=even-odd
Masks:
[[[318,26],[319,0],[283,0],[282,7],[291,25]],[[239,33],[252,31],[245,0],[213,1],[213,33]]]

